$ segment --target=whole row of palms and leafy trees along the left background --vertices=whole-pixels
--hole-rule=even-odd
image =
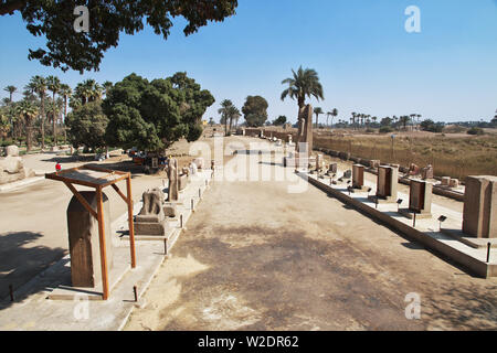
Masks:
[[[34,140],[45,147],[47,120],[54,146],[62,128],[64,140],[74,147],[161,151],[180,138],[200,138],[202,116],[214,103],[211,93],[186,73],[152,82],[131,74],[115,85],[86,79],[74,89],[54,76],[33,76],[19,101],[13,100],[17,87],[4,89],[10,97],[0,106],[1,137],[25,139],[28,151]]]

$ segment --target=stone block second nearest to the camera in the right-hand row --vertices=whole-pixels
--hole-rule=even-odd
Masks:
[[[409,189],[409,208],[400,210],[400,213],[412,218],[414,213],[417,218],[432,217],[433,184],[423,180],[411,180]]]

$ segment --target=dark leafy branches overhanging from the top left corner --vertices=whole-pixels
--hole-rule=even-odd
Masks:
[[[88,9],[89,29],[77,33],[74,9],[81,4]],[[46,38],[46,47],[29,50],[30,60],[83,72],[98,71],[104,53],[117,46],[123,32],[135,34],[147,23],[167,40],[172,19],[183,17],[183,32],[189,35],[208,21],[222,22],[233,15],[236,7],[237,0],[0,0],[0,15],[20,12],[31,34]]]

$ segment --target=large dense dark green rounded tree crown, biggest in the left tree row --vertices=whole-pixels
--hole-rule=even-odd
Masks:
[[[195,141],[214,97],[186,73],[149,82],[136,74],[116,83],[103,101],[108,146],[159,151],[180,138]]]

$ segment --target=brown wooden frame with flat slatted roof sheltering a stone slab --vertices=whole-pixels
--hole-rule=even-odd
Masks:
[[[129,172],[120,172],[110,169],[104,169],[92,164],[85,164],[77,168],[62,170],[55,173],[45,174],[46,179],[62,181],[76,196],[80,203],[94,216],[98,222],[98,238],[101,249],[101,269],[102,269],[102,288],[103,299],[107,300],[109,296],[108,285],[108,268],[107,268],[107,254],[105,247],[105,226],[104,226],[104,204],[102,190],[106,186],[112,186],[117,194],[128,205],[128,224],[129,224],[129,245],[131,256],[131,268],[136,267],[136,250],[135,250],[135,227],[133,223],[133,194],[131,194],[131,174]],[[126,193],[124,195],[117,182],[126,180]],[[96,191],[97,210],[86,202],[86,200],[74,188],[76,185],[83,185],[94,188]]]

